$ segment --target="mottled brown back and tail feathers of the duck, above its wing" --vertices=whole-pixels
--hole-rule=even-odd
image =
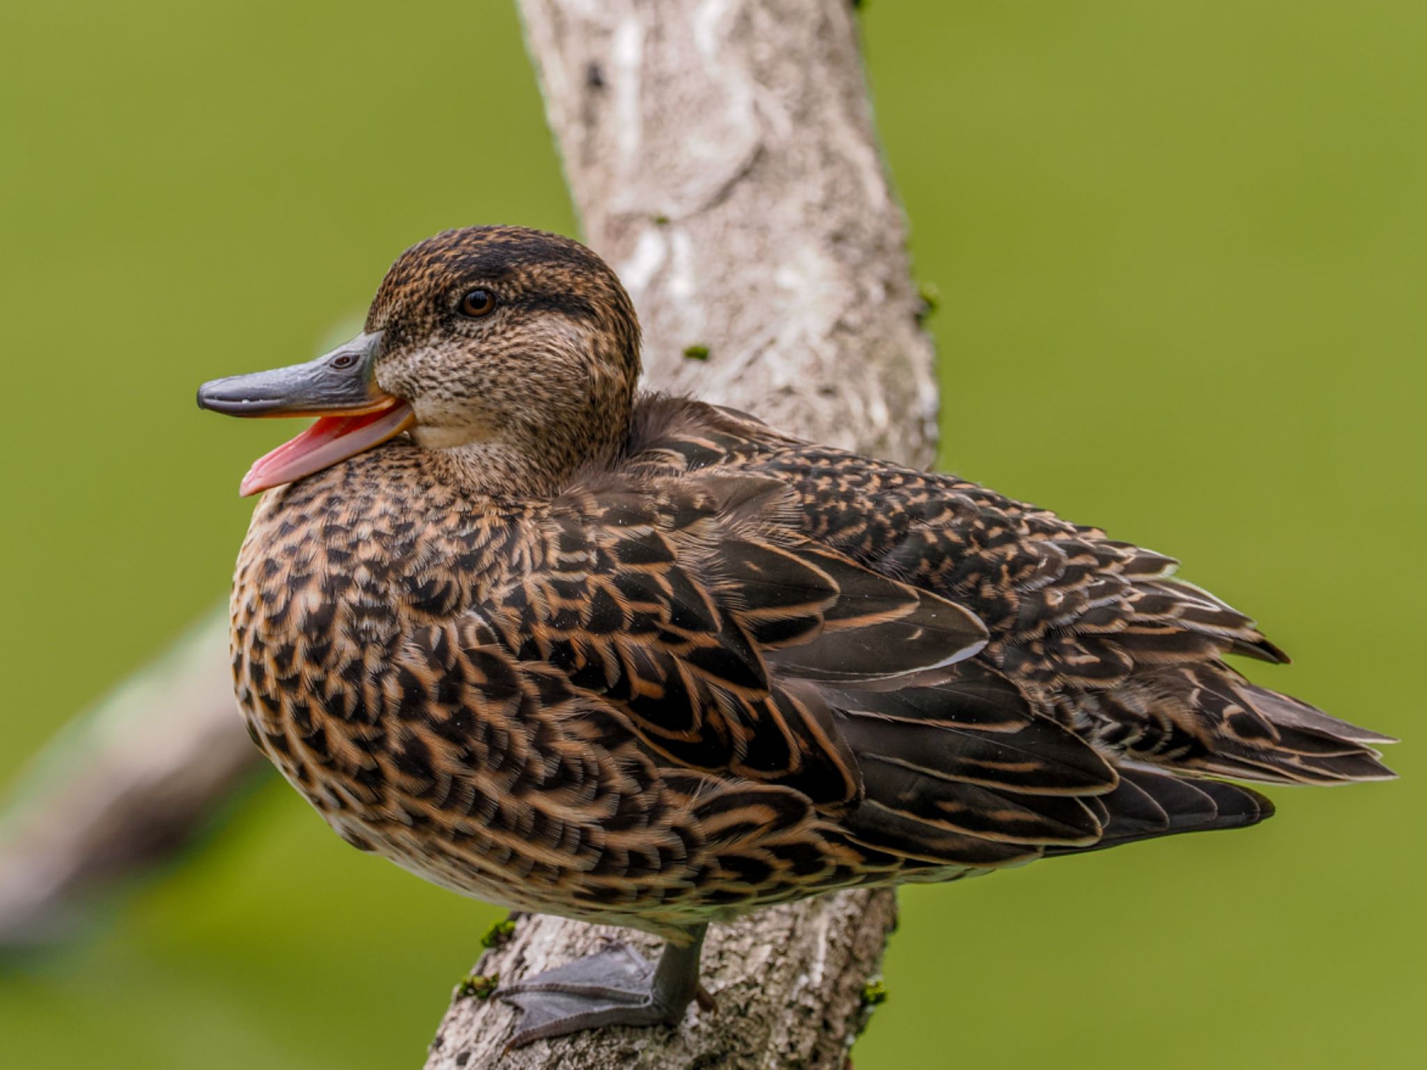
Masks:
[[[645,402],[644,464],[785,482],[802,532],[970,609],[979,656],[1107,750],[1189,773],[1336,783],[1391,776],[1387,736],[1250,685],[1223,662],[1287,656],[1177,579],[1177,562],[985,486],[781,437],[738,414]]]

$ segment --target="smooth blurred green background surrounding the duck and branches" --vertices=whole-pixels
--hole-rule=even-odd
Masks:
[[[943,464],[1173,552],[1418,738],[1427,4],[873,0]],[[435,230],[571,231],[504,1],[0,7],[0,782],[225,589],[313,355]],[[1427,1064],[1427,769],[903,895],[859,1070]],[[414,1066],[494,912],[265,780],[91,939],[0,974],[7,1066]]]

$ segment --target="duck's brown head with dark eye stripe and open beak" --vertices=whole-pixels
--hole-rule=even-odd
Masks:
[[[318,417],[254,462],[244,495],[402,432],[535,491],[618,449],[638,377],[634,305],[599,257],[558,234],[467,227],[402,253],[345,345],[205,382],[198,405]]]

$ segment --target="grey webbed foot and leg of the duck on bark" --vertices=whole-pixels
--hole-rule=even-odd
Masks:
[[[699,993],[704,930],[689,930],[689,943],[666,942],[658,966],[624,943],[598,954],[507,984],[497,996],[521,1009],[511,1047],[598,1026],[676,1026]],[[701,999],[701,1004],[702,1004]]]

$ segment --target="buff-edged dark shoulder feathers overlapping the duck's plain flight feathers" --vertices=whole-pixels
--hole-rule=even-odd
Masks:
[[[753,479],[574,489],[482,616],[519,658],[612,702],[665,759],[852,803],[856,763],[812,682],[939,669],[986,631],[759,519],[779,495]]]

